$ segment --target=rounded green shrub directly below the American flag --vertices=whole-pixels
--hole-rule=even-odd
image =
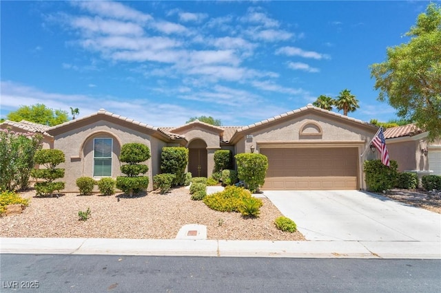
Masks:
[[[398,177],[398,164],[390,161],[391,166],[387,167],[381,160],[368,160],[363,164],[363,171],[366,173],[366,183],[371,191],[381,192],[396,186]]]

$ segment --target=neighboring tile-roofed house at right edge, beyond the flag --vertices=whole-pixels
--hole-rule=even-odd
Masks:
[[[429,132],[415,124],[391,127],[384,131],[389,158],[398,162],[398,171],[414,172],[418,177],[441,175],[441,140],[429,142]]]

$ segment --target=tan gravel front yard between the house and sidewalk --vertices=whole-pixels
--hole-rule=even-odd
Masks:
[[[260,217],[245,219],[240,213],[221,213],[191,200],[185,187],[166,195],[152,191],[134,197],[76,193],[35,197],[33,190],[20,195],[30,198],[30,204],[21,215],[0,217],[0,237],[174,239],[185,224],[201,224],[207,226],[208,239],[305,240],[300,232],[282,232],[274,226],[282,214],[265,198]],[[79,221],[78,212],[88,208],[90,218]]]

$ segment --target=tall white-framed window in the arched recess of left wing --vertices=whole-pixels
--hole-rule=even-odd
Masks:
[[[112,176],[112,138],[94,139],[94,177]]]

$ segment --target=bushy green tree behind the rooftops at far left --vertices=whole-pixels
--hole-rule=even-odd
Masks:
[[[68,112],[49,109],[43,104],[21,106],[17,111],[12,111],[6,116],[8,120],[20,122],[28,120],[43,125],[54,126],[68,122]]]

